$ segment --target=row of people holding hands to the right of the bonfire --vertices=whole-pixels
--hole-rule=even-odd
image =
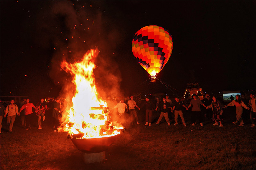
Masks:
[[[131,105],[132,103],[135,103]],[[121,103],[121,104],[120,104]],[[203,126],[203,122],[206,119],[211,119],[214,123],[213,126],[219,125],[219,127],[223,127],[222,124],[222,108],[227,108],[228,106],[236,106],[236,119],[233,124],[237,125],[239,123],[239,126],[244,126],[244,122],[242,120],[242,113],[246,112],[244,110],[248,110],[250,112],[250,120],[251,120],[251,127],[255,127],[254,119],[256,117],[256,104],[255,104],[255,92],[250,93],[250,100],[247,102],[245,100],[244,96],[241,98],[240,95],[235,96],[235,100],[231,100],[230,103],[227,105],[224,105],[218,100],[217,95],[212,95],[212,98],[209,94],[206,94],[204,96],[203,100],[200,100],[196,94],[192,95],[192,99],[188,105],[182,101],[180,101],[179,97],[175,97],[175,101],[171,101],[169,99],[169,96],[166,95],[162,98],[162,101],[160,102],[159,98],[157,98],[155,101],[150,100],[150,97],[145,98],[145,102],[138,107],[136,105],[136,102],[133,100],[133,96],[131,96],[131,100],[128,100],[127,104],[122,99],[118,103],[115,108],[117,108],[119,115],[126,115],[127,118],[127,112],[128,109],[132,109],[132,113],[130,113],[130,117],[128,116],[128,120],[130,119],[132,124],[136,120],[137,124],[140,124],[138,121],[137,111],[134,109],[134,106],[140,110],[140,107],[145,107],[145,125],[151,126],[152,123],[152,112],[156,111],[160,113],[160,116],[156,122],[156,125],[159,125],[162,118],[165,118],[165,121],[167,122],[167,125],[170,126],[170,119],[174,119],[174,126],[178,125],[178,116],[180,115],[180,119],[182,121],[182,124],[186,127],[187,124],[185,123],[185,119],[183,116],[183,108],[187,111],[190,107],[191,109],[191,126],[195,126],[197,123],[200,124],[200,126]],[[246,103],[246,104],[245,104]],[[130,109],[129,109],[130,111]],[[173,113],[174,112],[174,117]],[[220,123],[220,124],[219,124]]]

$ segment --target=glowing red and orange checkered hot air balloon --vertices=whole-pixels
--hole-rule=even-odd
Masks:
[[[172,54],[172,35],[161,26],[141,28],[133,37],[132,52],[152,80],[163,69]]]

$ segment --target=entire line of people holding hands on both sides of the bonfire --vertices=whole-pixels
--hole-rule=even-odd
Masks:
[[[116,116],[120,119],[120,122],[126,125],[127,122],[128,124],[131,123],[131,125],[134,125],[134,123],[140,125],[138,111],[141,110],[140,108],[145,108],[145,126],[151,126],[152,115],[153,112],[156,111],[160,114],[156,125],[159,125],[160,121],[164,117],[168,126],[171,125],[170,119],[174,120],[174,126],[176,126],[178,125],[178,116],[180,115],[182,124],[186,127],[188,124],[185,122],[182,110],[189,110],[189,108],[192,107],[190,112],[191,126],[195,126],[197,123],[199,123],[200,126],[203,126],[204,119],[207,118],[214,122],[214,126],[217,126],[220,123],[219,127],[223,127],[222,108],[236,106],[236,119],[232,123],[244,126],[242,114],[248,110],[248,112],[250,112],[251,127],[255,127],[255,93],[251,92],[249,96],[250,99],[248,101],[245,100],[244,96],[241,97],[240,95],[236,95],[235,100],[231,100],[227,105],[223,105],[216,95],[212,95],[212,97],[210,97],[210,95],[207,94],[204,96],[203,100],[200,100],[196,94],[193,94],[188,106],[183,101],[180,101],[179,97],[175,97],[175,101],[172,102],[168,95],[164,96],[162,101],[160,101],[159,98],[153,101],[149,96],[146,96],[145,101],[139,105],[140,107],[133,99],[133,96],[130,96],[125,100],[121,99],[113,109],[116,109]],[[36,113],[38,129],[42,129],[42,121],[46,119],[46,113],[48,113],[48,120],[56,131],[57,127],[60,126],[61,106],[60,99],[58,98],[55,98],[54,101],[49,103],[46,103],[42,98],[36,106],[33,103],[30,103],[29,99],[24,99],[24,101],[20,103],[19,107],[15,104],[14,100],[11,100],[10,104],[7,106],[1,104],[1,128],[3,117],[7,117],[8,131],[12,132],[16,115],[18,115],[21,116],[21,125],[26,127],[26,130],[29,130],[31,129],[31,125],[34,120],[33,113]]]

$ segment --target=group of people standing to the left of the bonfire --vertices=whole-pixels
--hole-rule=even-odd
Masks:
[[[54,130],[57,130],[57,127],[60,126],[61,118],[61,102],[58,98],[56,98],[55,101],[50,101],[48,103],[42,98],[36,106],[33,103],[30,103],[29,99],[24,99],[20,102],[19,107],[15,104],[14,100],[11,100],[10,104],[7,106],[4,106],[1,103],[1,129],[4,117],[7,119],[8,131],[12,132],[17,115],[20,116],[21,126],[25,127],[26,130],[29,130],[35,120],[35,114],[37,115],[38,129],[42,129],[42,121],[46,119],[46,112],[51,126]]]

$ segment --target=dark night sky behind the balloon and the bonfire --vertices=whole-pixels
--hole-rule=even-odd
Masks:
[[[70,76],[63,58],[97,47],[103,96],[166,92],[134,57],[134,34],[148,25],[172,35],[157,78],[184,92],[191,71],[204,92],[256,87],[256,1],[1,1],[1,96],[56,97]],[[146,82],[145,82],[146,81]],[[143,83],[144,82],[144,83]]]

